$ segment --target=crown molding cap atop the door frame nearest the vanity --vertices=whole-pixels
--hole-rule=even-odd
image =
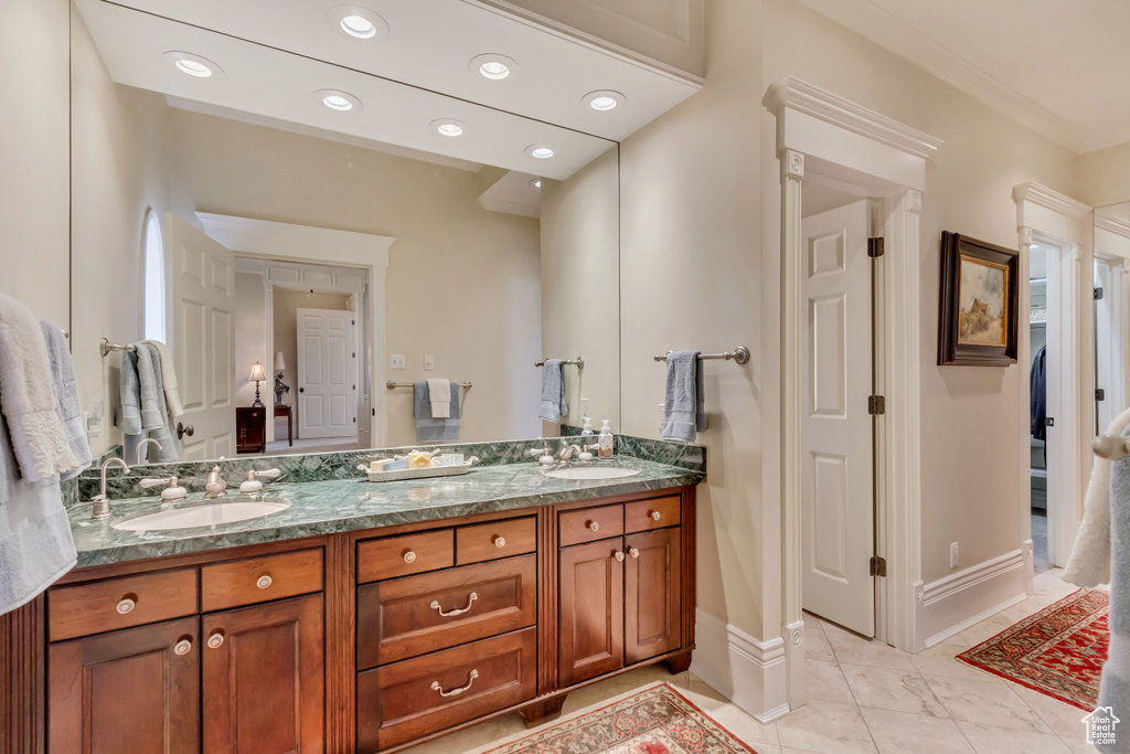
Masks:
[[[789,107],[922,159],[932,157],[942,144],[941,139],[793,76],[773,84],[768,96],[777,112]]]

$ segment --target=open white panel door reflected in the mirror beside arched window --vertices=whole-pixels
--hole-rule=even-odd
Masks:
[[[165,250],[172,261],[173,327],[168,346],[184,402],[179,421],[192,434],[182,458],[235,456],[235,258],[173,214],[165,215]]]

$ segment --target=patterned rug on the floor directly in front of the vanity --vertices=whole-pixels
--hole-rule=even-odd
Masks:
[[[488,754],[757,754],[668,684],[562,720]]]

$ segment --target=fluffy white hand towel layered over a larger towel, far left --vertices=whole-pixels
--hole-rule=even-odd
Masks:
[[[25,482],[78,467],[56,408],[40,321],[24,304],[0,295],[0,410]]]

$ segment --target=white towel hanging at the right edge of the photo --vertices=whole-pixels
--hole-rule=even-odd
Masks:
[[[1130,409],[1114,417],[1107,434],[1121,435],[1130,426]],[[1083,503],[1083,523],[1076,535],[1063,580],[1077,587],[1111,582],[1111,469],[1113,461],[1095,457]]]

